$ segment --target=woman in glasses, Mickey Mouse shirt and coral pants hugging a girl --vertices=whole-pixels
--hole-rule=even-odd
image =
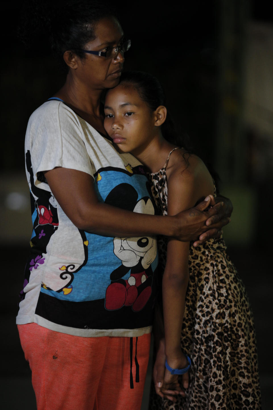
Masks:
[[[100,98],[118,84],[129,48],[112,11],[76,2],[52,27],[68,74],[27,127],[34,230],[20,340],[38,409],[138,409],[156,296],[155,236],[188,241],[205,232],[202,241],[228,218],[221,220],[221,203],[202,212],[210,198],[177,216],[154,215],[140,162],[106,137]]]

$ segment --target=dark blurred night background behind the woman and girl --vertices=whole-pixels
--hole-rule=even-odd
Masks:
[[[196,152],[219,173],[220,191],[234,204],[224,237],[253,307],[263,409],[270,409],[273,108],[271,105],[270,111],[270,104],[269,109],[265,104],[261,111],[267,128],[258,120],[253,123],[247,111],[251,91],[247,87],[260,88],[262,68],[269,64],[267,59],[257,64],[248,56],[254,49],[253,38],[261,41],[264,36],[266,42],[272,33],[270,7],[268,2],[254,0],[192,1],[176,6],[173,2],[147,1],[117,4],[124,32],[132,41],[125,69],[147,71],[159,78],[178,128],[189,135]],[[20,2],[2,5],[0,378],[2,408],[20,405],[31,410],[35,404],[30,371],[15,326],[17,294],[31,236],[24,137],[30,114],[62,86],[65,76],[46,43],[41,41],[38,49],[26,51],[18,40],[20,7]],[[272,56],[272,46],[270,53]],[[257,64],[261,74],[252,70],[256,74],[249,76],[247,63]],[[272,95],[272,82],[266,84],[264,89],[268,93],[269,88]],[[268,101],[268,94],[260,98],[259,109],[263,100]],[[17,195],[17,207],[10,205],[12,195]],[[147,404],[143,406],[147,408]]]

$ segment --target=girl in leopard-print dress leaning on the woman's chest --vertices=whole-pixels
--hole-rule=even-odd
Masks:
[[[108,91],[104,109],[104,128],[120,152],[132,153],[149,169],[152,194],[163,215],[188,209],[208,193],[215,196],[214,180],[201,159],[169,142],[164,93],[153,76],[124,73]],[[194,248],[163,237],[159,246],[165,342],[161,338],[156,343],[158,396],[153,390],[151,409],[259,409],[253,316],[223,239]],[[185,392],[177,373],[183,374]],[[170,389],[180,392],[175,405],[161,399],[176,401]]]

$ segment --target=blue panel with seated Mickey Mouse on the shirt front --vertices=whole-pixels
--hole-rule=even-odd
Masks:
[[[100,201],[134,212],[154,214],[149,183],[144,172],[133,173],[130,166],[108,167],[96,174],[94,184]],[[41,292],[66,301],[105,298],[108,310],[131,306],[141,310],[152,292],[153,272],[158,264],[156,240],[152,237],[102,237],[84,232],[88,260],[74,273],[73,281],[59,292],[42,287]],[[64,272],[67,266],[63,266]]]

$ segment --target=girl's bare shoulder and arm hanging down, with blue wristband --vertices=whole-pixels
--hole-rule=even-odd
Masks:
[[[194,205],[204,193],[213,194],[214,186],[207,169],[197,157],[190,159],[190,165],[183,172],[179,167],[168,180],[168,215]],[[169,239],[167,261],[162,280],[162,298],[165,326],[165,354],[173,369],[187,366],[180,347],[180,334],[185,310],[185,295],[189,281],[189,242]],[[171,389],[178,376],[165,371],[164,388]],[[183,387],[188,387],[188,374],[183,375]]]

